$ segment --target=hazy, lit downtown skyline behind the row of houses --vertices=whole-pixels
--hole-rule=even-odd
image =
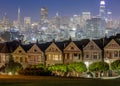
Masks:
[[[18,7],[16,15],[12,14],[16,16],[16,19],[10,21],[9,14],[4,12],[0,20],[1,41],[21,40],[26,44],[36,41],[40,43],[50,42],[53,39],[56,41],[64,41],[69,38],[72,40],[99,39],[118,34],[120,32],[120,19],[119,16],[117,19],[114,18],[112,10],[108,10],[109,4],[106,2],[109,0],[96,1],[98,1],[96,15],[90,11],[83,11],[79,14],[66,16],[58,10],[53,14],[53,17],[49,17],[51,13],[49,8],[42,6],[38,10],[38,21],[32,21],[32,17],[22,16],[24,8]]]

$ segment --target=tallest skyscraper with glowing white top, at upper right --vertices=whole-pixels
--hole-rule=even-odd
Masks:
[[[105,19],[105,15],[106,15],[105,4],[106,4],[105,0],[100,1],[99,16],[100,16],[100,18],[103,18],[103,19]]]

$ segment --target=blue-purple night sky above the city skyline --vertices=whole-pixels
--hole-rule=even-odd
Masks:
[[[49,17],[59,12],[62,16],[81,14],[90,11],[92,15],[99,13],[100,0],[0,0],[0,20],[6,12],[10,20],[17,19],[17,9],[21,8],[21,16],[32,17],[33,21],[39,21],[40,8],[47,7]],[[113,18],[120,18],[120,0],[106,0],[106,9],[113,12]]]

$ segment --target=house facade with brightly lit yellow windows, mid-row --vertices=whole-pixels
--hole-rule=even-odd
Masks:
[[[63,54],[59,47],[52,42],[45,50],[46,65],[63,64]]]

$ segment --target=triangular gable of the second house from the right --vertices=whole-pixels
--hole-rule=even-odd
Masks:
[[[83,50],[100,50],[99,46],[94,42],[90,41],[84,48]]]

